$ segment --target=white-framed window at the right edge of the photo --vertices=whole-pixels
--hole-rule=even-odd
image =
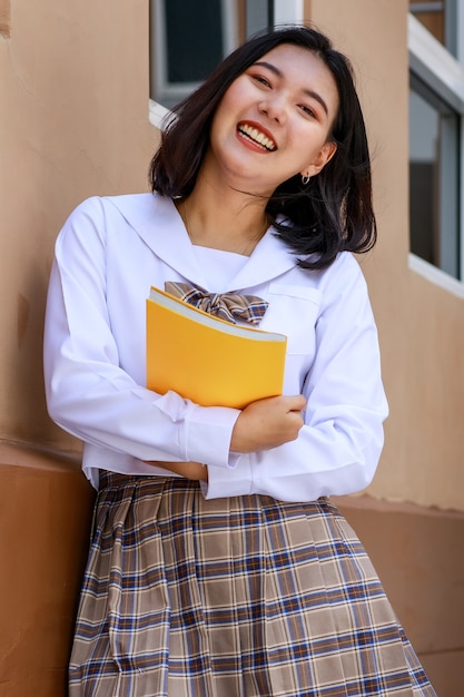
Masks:
[[[444,276],[464,281],[464,68],[447,47],[455,46],[450,37],[457,37],[458,22],[452,31],[446,18],[464,18],[464,0],[414,2],[409,9],[411,264],[448,287]]]

